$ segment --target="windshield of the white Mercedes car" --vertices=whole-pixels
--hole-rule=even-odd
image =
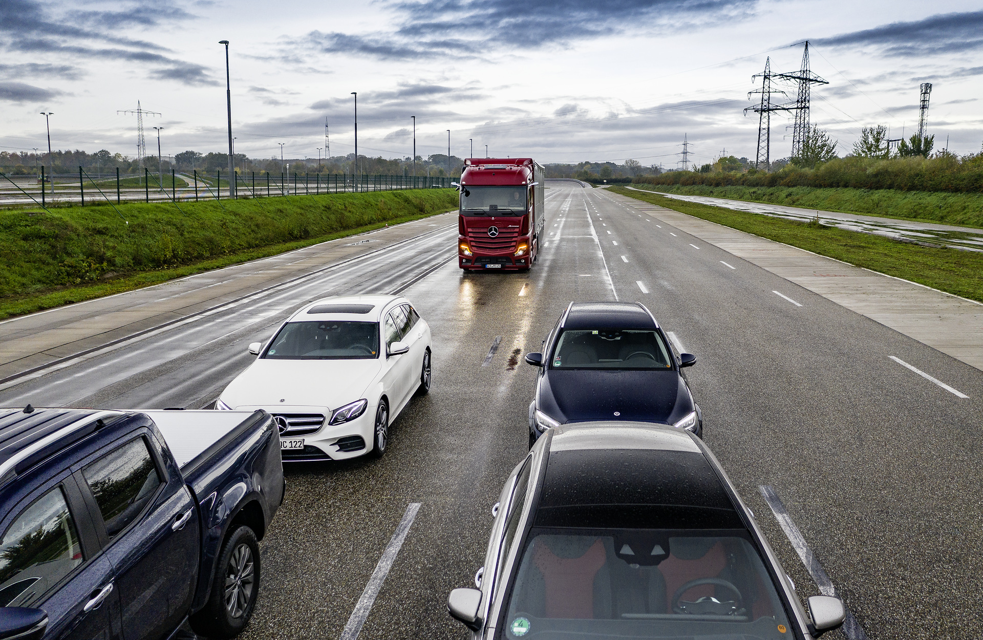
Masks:
[[[263,358],[272,360],[364,360],[378,357],[378,323],[287,322]]]

